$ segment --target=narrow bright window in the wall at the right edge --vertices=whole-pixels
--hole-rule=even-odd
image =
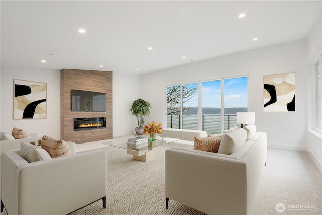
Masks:
[[[321,72],[320,60],[315,64],[315,130],[322,133],[322,92],[321,92]]]

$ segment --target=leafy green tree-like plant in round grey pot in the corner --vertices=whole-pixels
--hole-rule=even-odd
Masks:
[[[144,116],[148,116],[152,109],[149,102],[143,99],[134,100],[130,111],[137,117],[138,127],[135,128],[137,134],[143,134]]]

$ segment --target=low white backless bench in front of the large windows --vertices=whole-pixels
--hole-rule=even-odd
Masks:
[[[161,141],[164,137],[171,137],[176,139],[182,139],[187,141],[193,141],[194,137],[206,137],[207,132],[203,130],[189,130],[189,129],[176,129],[176,128],[165,128],[162,129],[160,137]]]

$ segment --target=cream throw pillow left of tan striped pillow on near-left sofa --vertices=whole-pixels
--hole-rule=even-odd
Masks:
[[[20,143],[20,155],[28,163],[51,159],[46,150],[23,141]]]

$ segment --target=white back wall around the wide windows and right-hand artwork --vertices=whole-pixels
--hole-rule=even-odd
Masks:
[[[296,112],[263,112],[263,76],[296,71]],[[148,121],[165,124],[165,85],[249,74],[249,111],[258,131],[267,132],[270,147],[306,151],[306,40],[194,62],[142,75],[141,95],[153,107]]]

